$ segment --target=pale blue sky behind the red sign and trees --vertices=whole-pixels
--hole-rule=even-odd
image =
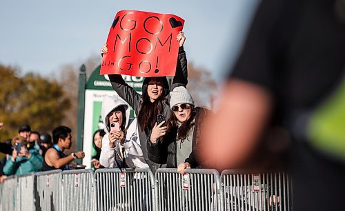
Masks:
[[[99,54],[119,10],[142,10],[183,18],[188,61],[219,80],[235,61],[258,2],[1,0],[0,63],[49,77]]]

